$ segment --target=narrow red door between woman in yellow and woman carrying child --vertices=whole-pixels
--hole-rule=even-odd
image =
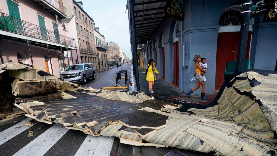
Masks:
[[[173,83],[179,86],[179,41],[173,43]]]

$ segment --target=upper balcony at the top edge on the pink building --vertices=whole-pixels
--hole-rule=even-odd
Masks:
[[[42,6],[44,9],[57,14],[62,17],[65,18],[66,17],[66,11],[65,11],[65,7],[58,2],[57,0],[32,0],[34,1],[36,4]]]

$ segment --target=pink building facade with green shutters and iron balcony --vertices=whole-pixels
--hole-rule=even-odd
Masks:
[[[78,53],[70,35],[72,28],[61,22],[68,18],[61,1],[0,0],[0,10],[0,50],[4,63],[24,60],[29,65],[44,66],[55,76],[76,63]]]

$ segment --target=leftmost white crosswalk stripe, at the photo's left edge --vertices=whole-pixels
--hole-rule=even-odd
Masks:
[[[4,131],[0,132],[0,145],[5,143],[6,141],[12,139],[17,134],[20,134],[21,132],[25,131],[26,129],[29,129],[29,127],[31,127],[31,126],[25,126],[25,123],[30,121],[30,120],[31,120],[30,118],[25,119],[25,120],[19,122],[18,124],[16,124],[16,125],[8,128],[8,129],[5,129]],[[16,127],[20,127],[20,128],[16,128]]]

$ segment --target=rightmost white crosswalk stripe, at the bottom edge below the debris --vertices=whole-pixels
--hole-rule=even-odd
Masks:
[[[90,141],[89,141],[90,140]],[[114,137],[108,136],[98,136],[94,137],[88,135],[75,156],[79,155],[97,155],[97,156],[107,156],[110,155],[112,150],[112,143],[114,142]]]

